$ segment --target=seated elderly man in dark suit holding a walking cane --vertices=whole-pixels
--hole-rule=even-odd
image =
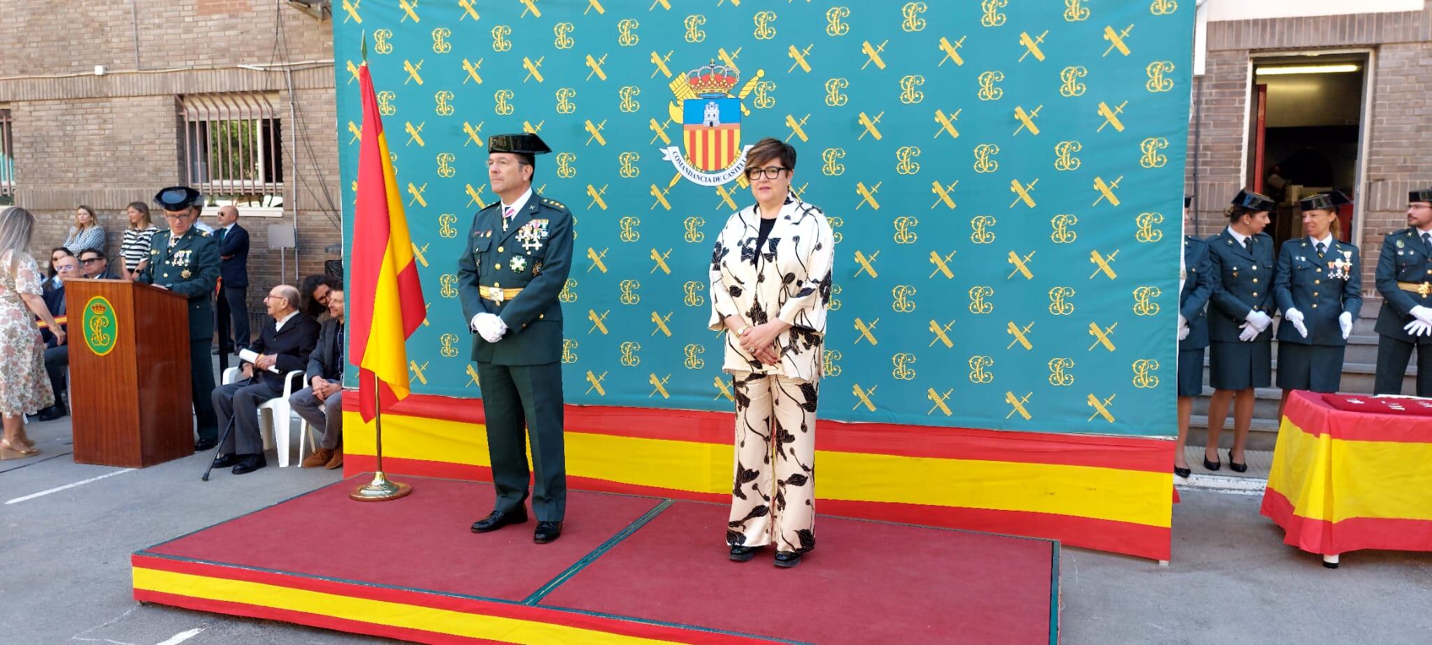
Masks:
[[[318,340],[318,322],[299,315],[298,298],[298,290],[286,284],[269,290],[263,297],[269,320],[263,322],[259,338],[249,345],[258,358],[242,367],[248,380],[213,390],[219,426],[229,424],[232,419],[232,427],[213,460],[215,467],[233,466],[233,474],[245,474],[268,466],[259,436],[259,404],[284,393],[284,376],[306,367]]]

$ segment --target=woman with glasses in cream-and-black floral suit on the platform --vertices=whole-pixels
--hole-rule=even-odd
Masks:
[[[732,214],[712,252],[710,328],[726,331],[736,466],[726,543],[746,562],[775,545],[790,568],[815,548],[815,410],[835,241],[825,214],[790,194],[795,148],[746,152],[756,204]]]

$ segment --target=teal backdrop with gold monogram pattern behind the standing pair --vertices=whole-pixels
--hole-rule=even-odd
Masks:
[[[739,145],[798,146],[792,191],[831,225],[828,417],[1169,434],[1158,370],[1174,364],[1181,249],[1164,234],[1191,13],[1174,0],[335,3],[341,185],[355,179],[367,33],[435,305],[410,343],[414,387],[478,394],[453,258],[495,199],[487,136],[534,132],[553,148],[534,188],[567,204],[580,241],[557,294],[569,401],[727,410],[705,265],[750,185],[699,186],[662,150],[689,150],[689,70],[737,70]]]

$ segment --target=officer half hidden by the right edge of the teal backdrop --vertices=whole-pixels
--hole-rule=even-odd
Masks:
[[[1189,198],[1183,198],[1183,228],[1190,229]],[[1209,244],[1193,235],[1183,236],[1183,275],[1179,288],[1179,441],[1173,453],[1173,473],[1187,479],[1189,459],[1183,446],[1189,441],[1189,417],[1193,397],[1203,394],[1203,350],[1209,347],[1209,318],[1203,305],[1213,295],[1213,275],[1209,272]]]

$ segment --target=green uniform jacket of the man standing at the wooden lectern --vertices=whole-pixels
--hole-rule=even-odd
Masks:
[[[149,264],[136,282],[168,287],[189,298],[189,340],[213,337],[213,285],[219,281],[219,245],[213,236],[190,228],[169,248],[169,231],[149,244]]]

